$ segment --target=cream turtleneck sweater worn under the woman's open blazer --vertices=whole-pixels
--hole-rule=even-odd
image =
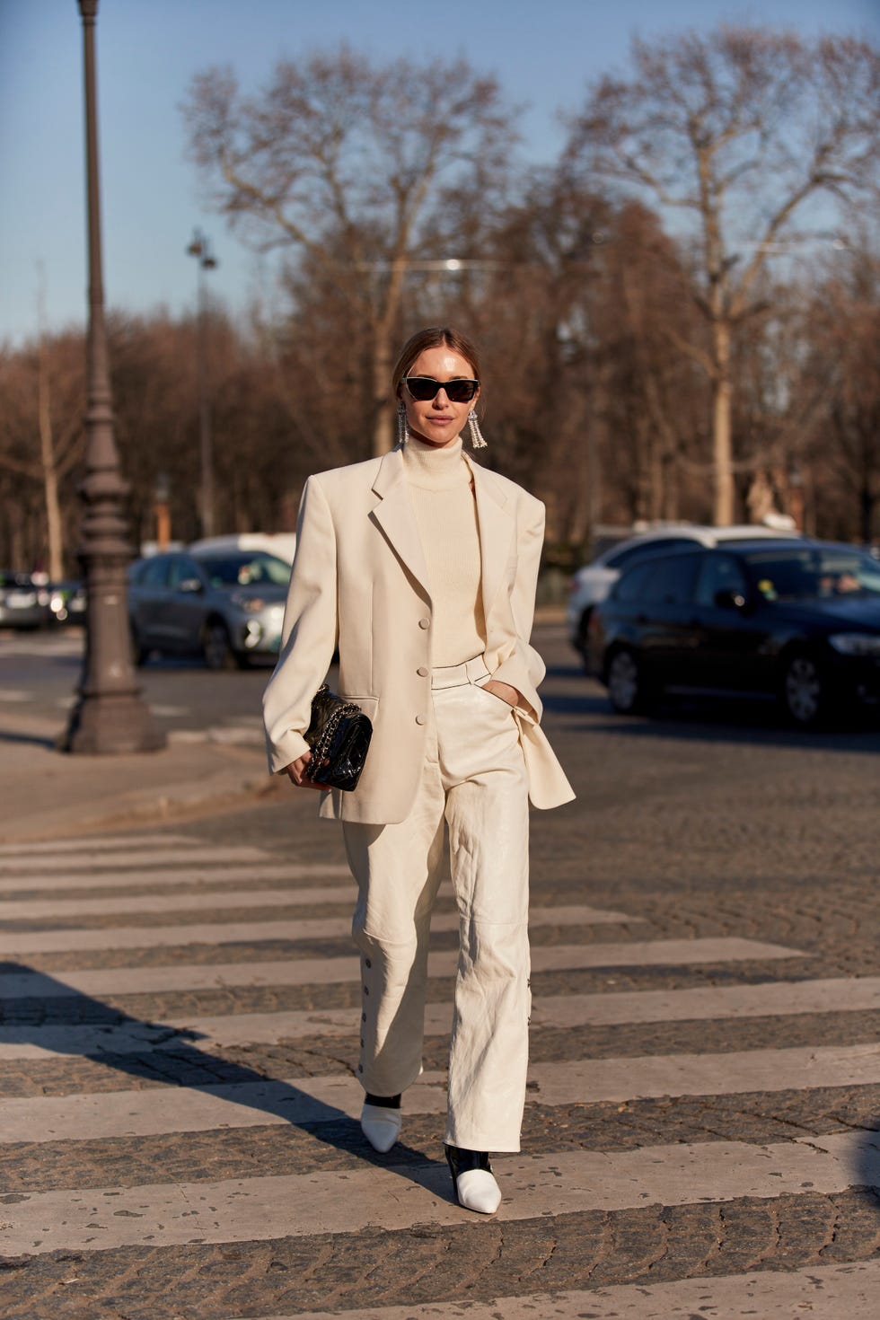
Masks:
[[[434,605],[431,664],[462,664],[486,649],[486,619],[476,500],[460,437],[434,449],[410,436],[404,470]]]

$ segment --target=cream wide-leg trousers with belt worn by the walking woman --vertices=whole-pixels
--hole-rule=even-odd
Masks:
[[[431,671],[433,713],[416,804],[396,825],[343,822],[358,880],[358,1076],[397,1096],[422,1067],[427,945],[443,822],[459,916],[446,1143],[519,1151],[528,1064],[529,800],[516,715],[484,692],[482,657]]]

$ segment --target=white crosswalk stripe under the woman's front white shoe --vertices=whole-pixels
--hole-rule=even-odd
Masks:
[[[501,1155],[495,1166],[508,1193],[497,1220],[509,1222],[587,1208],[777,1199],[805,1183],[825,1195],[843,1192],[880,1180],[880,1146],[836,1133],[767,1146],[712,1142],[612,1155]],[[0,1242],[9,1254],[44,1254],[356,1233],[368,1225],[394,1230],[425,1220],[462,1222],[439,1164],[37,1192],[4,1204]]]

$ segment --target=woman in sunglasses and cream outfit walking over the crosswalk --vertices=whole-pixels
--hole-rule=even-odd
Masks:
[[[373,725],[342,821],[359,898],[361,1129],[401,1131],[421,1072],[430,916],[449,832],[459,962],[446,1155],[459,1204],[501,1200],[489,1152],[520,1150],[528,1063],[529,797],[574,795],[538,721],[544,663],[529,645],[544,507],[463,453],[484,441],[474,346],[422,330],[393,375],[400,444],[309,478],[282,649],[264,697],[270,768],[298,787],[311,697],[339,649],[339,694]]]

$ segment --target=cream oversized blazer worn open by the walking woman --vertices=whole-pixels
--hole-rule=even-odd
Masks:
[[[536,807],[558,807],[571,787],[538,727],[544,661],[529,645],[544,539],[544,506],[520,486],[466,459],[474,473],[486,612],[486,665],[522,693],[516,710]],[[263,700],[273,774],[307,744],[311,698],[339,647],[339,696],[373,723],[354,792],[334,791],[321,814],[388,825],[418,791],[431,701],[431,591],[404,474],[402,447],[310,477],[281,653]]]

